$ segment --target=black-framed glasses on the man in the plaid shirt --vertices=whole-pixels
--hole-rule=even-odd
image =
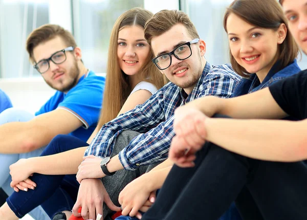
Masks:
[[[161,54],[152,59],[152,62],[155,63],[156,67],[159,70],[165,70],[169,68],[171,64],[171,55],[174,55],[177,59],[184,60],[189,58],[192,55],[191,44],[199,42],[199,38],[195,38],[191,41],[183,43],[182,45],[175,48],[173,51],[165,54]]]

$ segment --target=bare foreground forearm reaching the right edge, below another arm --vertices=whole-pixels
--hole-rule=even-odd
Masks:
[[[303,121],[208,118],[207,140],[250,158],[269,161],[307,159]]]

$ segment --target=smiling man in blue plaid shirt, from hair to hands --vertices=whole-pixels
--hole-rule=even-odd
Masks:
[[[96,207],[100,204],[96,201],[99,199],[97,193],[103,185],[99,183],[98,186],[96,178],[165,160],[174,136],[174,110],[201,96],[229,98],[240,81],[230,65],[214,67],[206,61],[204,40],[181,11],[158,12],[147,22],[145,38],[156,56],[152,61],[170,82],[143,105],[106,123],[85,151],[88,157],[79,166],[80,188],[73,209],[74,214],[79,215],[77,210],[82,206],[85,219],[95,218],[95,210],[99,209]],[[127,135],[126,130],[135,132]],[[117,141],[120,136],[126,136],[126,141]],[[113,155],[115,144],[123,148],[118,155]],[[120,182],[118,180],[115,185]],[[104,193],[107,192],[104,190]],[[103,201],[103,195],[100,200]]]

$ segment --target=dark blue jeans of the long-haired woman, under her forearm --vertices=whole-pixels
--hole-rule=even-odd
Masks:
[[[88,146],[86,142],[69,135],[58,135],[41,153],[41,156],[54,155],[77,147]],[[31,180],[37,184],[28,192],[13,192],[7,203],[17,217],[21,218],[36,206],[41,205],[50,218],[56,212],[71,210],[77,200],[79,183],[76,175],[43,175],[34,173]],[[38,218],[41,220],[40,218]]]

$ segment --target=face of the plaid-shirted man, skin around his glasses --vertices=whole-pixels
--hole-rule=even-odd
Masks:
[[[151,47],[157,57],[191,40],[193,39],[187,29],[183,25],[177,24],[162,35],[153,37]],[[165,74],[169,81],[183,88],[187,94],[191,93],[199,80],[206,62],[202,58],[206,52],[206,44],[202,39],[198,43],[191,44],[190,47],[192,55],[189,58],[179,60],[172,55],[170,67],[161,70],[161,73]]]

